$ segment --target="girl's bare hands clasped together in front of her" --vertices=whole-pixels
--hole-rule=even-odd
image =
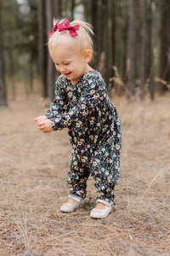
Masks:
[[[40,131],[44,133],[54,131],[54,129],[52,128],[52,122],[46,116],[39,116],[34,119],[34,121],[37,122],[37,126]]]

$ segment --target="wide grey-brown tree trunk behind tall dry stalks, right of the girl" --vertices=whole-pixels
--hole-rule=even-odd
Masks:
[[[136,1],[129,0],[128,2],[128,43],[127,43],[127,55],[130,61],[129,71],[127,76],[127,88],[132,95],[135,94],[136,84]]]

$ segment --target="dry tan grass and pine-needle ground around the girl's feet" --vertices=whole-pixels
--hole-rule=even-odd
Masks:
[[[93,178],[76,212],[62,213],[71,160],[67,130],[43,134],[40,96],[0,110],[0,255],[170,255],[170,95],[155,102],[114,99],[122,123],[117,209],[89,217]],[[46,104],[47,107],[47,104]]]

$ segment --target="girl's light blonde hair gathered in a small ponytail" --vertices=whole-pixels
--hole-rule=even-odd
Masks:
[[[60,20],[59,24],[64,20]],[[56,23],[56,20],[54,20]],[[82,20],[73,20],[71,22],[71,26],[79,25],[79,29],[77,30],[77,36],[71,37],[71,34],[68,30],[59,32],[59,30],[55,31],[54,34],[48,40],[48,49],[54,50],[54,48],[58,45],[62,44],[70,44],[73,49],[75,49],[78,53],[83,54],[86,49],[90,49],[91,51],[91,59],[93,56],[93,41],[91,35],[94,34],[91,25]]]

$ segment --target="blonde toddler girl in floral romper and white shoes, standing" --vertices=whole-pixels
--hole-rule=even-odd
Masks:
[[[91,174],[97,205],[91,218],[105,218],[116,207],[114,188],[119,178],[121,126],[101,74],[89,66],[93,33],[88,23],[57,21],[49,32],[48,49],[61,73],[55,99],[45,116],[35,119],[42,132],[68,128],[71,140],[70,194],[61,212],[73,212],[86,197]]]

